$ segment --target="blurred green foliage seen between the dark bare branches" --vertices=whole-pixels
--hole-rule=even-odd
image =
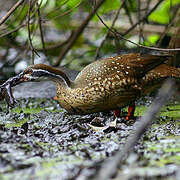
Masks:
[[[29,3],[31,2],[31,8]],[[97,4],[96,0],[96,4]],[[138,22],[158,3],[153,0],[104,0],[104,3],[98,9],[98,14],[102,20],[111,27],[113,20],[118,12],[121,4],[119,16],[115,22],[115,31],[123,34],[128,29]],[[14,1],[12,0],[12,4]],[[41,17],[42,32],[44,44],[47,48],[45,58],[40,58],[42,63],[54,64],[60,56],[63,48],[73,32],[75,32],[84,22],[89,13],[92,12],[94,6],[93,0],[29,0],[19,6],[8,18],[8,20],[0,26],[0,68],[4,66],[15,67],[20,61],[24,60],[27,64],[31,64],[31,48],[29,36],[32,38],[34,49],[40,56],[43,54],[42,39],[40,33]],[[173,36],[172,27],[176,27],[176,21],[172,23],[167,32],[164,25],[168,26],[169,22],[175,19],[175,7],[179,7],[180,0],[162,0],[162,3],[141,23],[141,27],[133,28],[124,37],[135,40],[136,43],[141,43],[146,46],[156,46],[162,36]],[[9,8],[11,8],[10,6]],[[40,7],[40,16],[38,8]],[[140,11],[141,10],[141,11]],[[7,12],[7,10],[6,10]],[[178,12],[179,13],[179,12]],[[177,14],[178,14],[177,13]],[[5,13],[6,14],[6,13]],[[5,15],[3,14],[3,15]],[[30,18],[30,26],[28,34],[28,16]],[[178,17],[178,16],[176,16]],[[152,29],[146,28],[146,25],[153,24]],[[156,31],[156,28],[161,27],[161,31]],[[141,28],[141,29],[140,29]],[[137,31],[141,30],[141,33]],[[163,34],[163,33],[166,34]],[[90,20],[89,24],[83,30],[83,33],[77,37],[77,40],[69,49],[62,64],[67,64],[74,69],[81,69],[82,66],[94,60],[96,49],[104,41],[98,57],[111,56],[121,52],[129,52],[128,46],[124,40],[117,39],[112,33],[108,33],[108,29],[100,22],[98,17]],[[136,37],[136,38],[134,38]],[[69,38],[69,39],[68,39]],[[105,40],[104,40],[105,38]],[[141,41],[139,41],[141,39]],[[64,43],[63,46],[60,44]],[[168,47],[168,43],[166,47]],[[161,46],[161,44],[159,44]],[[14,50],[14,56],[8,54],[8,49]],[[38,60],[37,60],[38,59]],[[10,62],[10,63],[9,63]],[[39,63],[39,57],[35,54],[35,63]]]

